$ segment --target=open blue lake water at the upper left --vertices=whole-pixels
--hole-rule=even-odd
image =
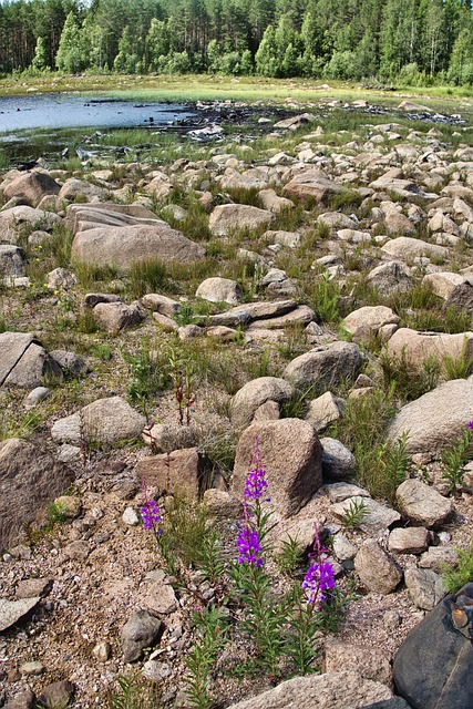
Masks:
[[[0,99],[0,133],[25,129],[164,126],[193,115],[196,115],[195,111],[179,104],[140,103],[84,94],[35,94]]]

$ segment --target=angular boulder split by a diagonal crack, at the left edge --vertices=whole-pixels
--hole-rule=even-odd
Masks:
[[[31,332],[0,333],[0,387],[34,389],[44,377],[61,380],[62,371]]]

